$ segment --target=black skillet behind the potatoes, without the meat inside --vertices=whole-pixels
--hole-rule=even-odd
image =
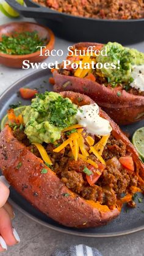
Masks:
[[[59,37],[71,42],[116,41],[132,44],[144,40],[144,18],[139,20],[97,20],[60,13],[55,10],[24,0],[27,7],[15,0],[5,0],[21,15],[35,18],[40,24],[49,26]]]

